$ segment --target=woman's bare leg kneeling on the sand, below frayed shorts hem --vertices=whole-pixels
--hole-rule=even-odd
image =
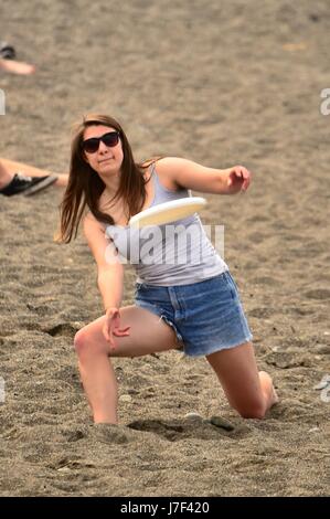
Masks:
[[[273,381],[257,370],[251,342],[216,351],[206,357],[214,369],[230,404],[246,419],[263,419],[277,401]]]

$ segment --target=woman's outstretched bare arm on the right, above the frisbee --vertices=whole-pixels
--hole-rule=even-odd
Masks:
[[[203,193],[235,194],[246,191],[251,182],[251,172],[244,166],[213,169],[177,157],[158,160],[157,171],[177,189],[187,188]]]

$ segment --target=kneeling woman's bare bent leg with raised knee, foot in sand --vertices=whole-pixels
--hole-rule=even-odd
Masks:
[[[75,336],[82,382],[95,423],[116,424],[117,381],[109,357],[139,357],[178,348],[173,329],[158,316],[136,306],[120,309],[120,327],[130,326],[128,337],[115,337],[116,349],[109,350],[100,317]]]

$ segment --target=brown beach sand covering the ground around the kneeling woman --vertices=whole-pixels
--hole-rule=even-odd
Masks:
[[[82,237],[52,242],[60,188],[2,197],[0,494],[329,495],[330,392],[315,389],[330,374],[328,2],[18,0],[0,20],[1,39],[36,65],[0,76],[1,156],[65,171],[71,125],[95,110],[121,121],[137,160],[253,171],[244,195],[206,195],[202,218],[225,226],[258,364],[280,398],[246,421],[204,359],[120,359],[120,426],[94,426],[72,347],[102,314],[94,261]],[[128,269],[125,304],[134,279]]]

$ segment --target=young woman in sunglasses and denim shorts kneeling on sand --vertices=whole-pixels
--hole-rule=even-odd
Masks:
[[[83,220],[98,268],[105,315],[82,328],[74,341],[95,423],[117,423],[117,382],[109,357],[170,349],[205,356],[230,404],[244,417],[262,419],[277,401],[270,377],[257,370],[237,287],[199,216],[179,222],[183,233],[194,229],[184,251],[174,251],[175,237],[164,239],[164,226],[161,240],[153,240],[148,250],[148,236],[127,225],[139,211],[185,198],[190,189],[235,194],[249,182],[251,173],[242,166],[219,170],[173,157],[138,165],[123,128],[108,116],[89,115],[77,127],[61,240],[70,242]],[[136,301],[120,307],[123,256],[130,261],[127,251],[132,250],[143,250],[132,262],[138,273]]]

